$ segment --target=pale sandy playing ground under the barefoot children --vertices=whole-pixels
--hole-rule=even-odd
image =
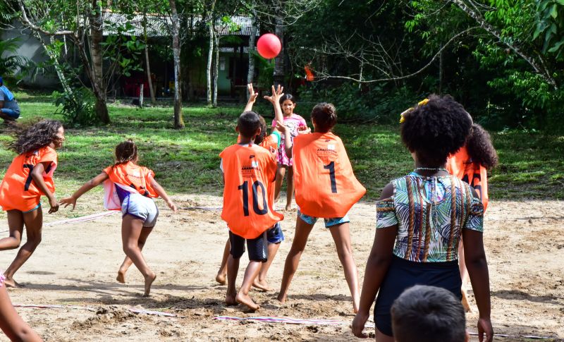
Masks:
[[[81,199],[82,200],[82,199]],[[221,198],[176,197],[180,207],[219,207]],[[96,203],[88,207],[85,203]],[[85,196],[80,213],[102,209],[99,196]],[[164,207],[159,202],[159,207]],[[364,266],[374,239],[374,205],[357,204],[350,214],[355,258]],[[45,222],[63,218],[47,215]],[[68,214],[68,212],[66,213]],[[142,276],[132,267],[126,285],[115,281],[123,260],[119,214],[81,224],[44,228],[44,238],[15,276],[25,288],[10,291],[14,303],[90,307],[82,309],[19,308],[18,312],[45,341],[350,341],[348,326],[224,322],[214,316],[276,316],[340,319],[350,322],[353,307],[331,235],[315,226],[285,305],[275,293],[252,291],[262,308],[223,304],[226,286],[214,282],[227,231],[219,212],[162,210],[144,250],[157,273],[152,296],[142,298]],[[0,231],[6,230],[5,216]],[[564,338],[564,202],[491,202],[484,239],[491,277],[491,319],[498,334]],[[278,288],[290,248],[295,212],[286,213],[286,241],[269,274]],[[7,233],[1,233],[6,236]],[[5,268],[15,250],[0,252]],[[246,266],[243,257],[241,264]],[[241,267],[238,283],[243,279]],[[361,281],[362,283],[362,281]],[[467,315],[476,331],[477,309]],[[182,317],[133,314],[127,309],[173,312]],[[372,319],[371,319],[372,320]],[[367,331],[374,331],[367,329]],[[496,338],[498,341],[529,341]],[[0,341],[5,341],[0,336]],[[477,338],[472,338],[477,341]]]

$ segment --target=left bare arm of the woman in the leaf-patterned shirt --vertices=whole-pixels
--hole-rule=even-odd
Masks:
[[[382,190],[380,200],[391,197],[393,195],[393,185],[388,184]],[[384,276],[388,272],[392,257],[393,245],[398,235],[398,225],[376,229],[374,236],[374,244],[368,257],[366,270],[364,271],[364,283],[362,284],[362,292],[360,293],[360,307],[358,313],[353,319],[353,334],[357,337],[367,338],[368,336],[362,332],[364,324],[370,315],[370,307],[374,303],[376,293],[384,281]]]

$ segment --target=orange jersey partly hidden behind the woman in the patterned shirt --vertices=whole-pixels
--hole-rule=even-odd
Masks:
[[[462,147],[455,154],[448,157],[446,169],[453,176],[472,186],[484,204],[488,207],[488,171],[478,163],[472,162],[466,147]]]

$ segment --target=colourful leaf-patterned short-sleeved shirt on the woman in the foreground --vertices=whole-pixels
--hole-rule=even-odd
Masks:
[[[376,202],[376,228],[398,225],[394,255],[412,262],[453,261],[462,228],[484,231],[484,205],[458,178],[412,172],[391,183],[393,195]]]

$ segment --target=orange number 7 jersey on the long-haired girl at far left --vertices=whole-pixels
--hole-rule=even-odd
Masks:
[[[57,167],[58,157],[54,149],[42,147],[14,158],[4,180],[0,185],[0,205],[4,210],[17,209],[27,212],[39,204],[39,197],[45,195],[33,181],[31,173],[35,165],[48,162],[43,172],[43,181],[51,193],[55,192],[53,173]]]

